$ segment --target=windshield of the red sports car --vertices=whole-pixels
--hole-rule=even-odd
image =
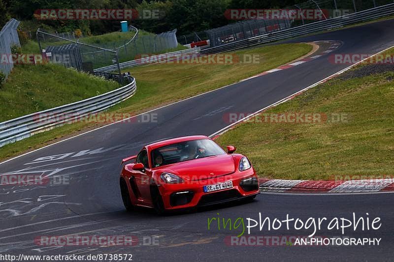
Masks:
[[[152,150],[152,167],[221,154],[226,152],[210,139],[184,141]]]

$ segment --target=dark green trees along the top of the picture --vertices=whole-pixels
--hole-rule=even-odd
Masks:
[[[160,33],[178,29],[178,35],[217,28],[234,21],[224,16],[231,8],[283,8],[297,0],[0,0],[0,25],[10,18],[21,20],[25,30],[38,27],[58,32],[80,29],[84,35],[97,35],[120,29],[119,20],[36,20],[37,9],[137,9],[160,10],[160,19],[136,19],[133,26]]]

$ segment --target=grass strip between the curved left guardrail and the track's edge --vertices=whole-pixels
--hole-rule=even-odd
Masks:
[[[131,115],[187,98],[198,93],[223,87],[265,70],[292,61],[312,50],[308,44],[282,44],[263,46],[235,52],[237,55],[258,54],[256,64],[156,64],[132,67],[137,92],[130,99],[112,107],[109,112]],[[33,137],[1,147],[0,159],[14,156],[52,143],[54,140],[75,135],[80,131],[100,126],[100,123],[67,124]]]

